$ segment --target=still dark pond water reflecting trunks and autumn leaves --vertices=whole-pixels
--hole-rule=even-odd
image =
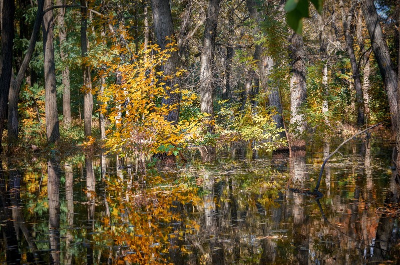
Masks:
[[[348,143],[319,200],[288,190],[313,188],[336,146],[292,158],[230,149],[211,162],[193,150],[191,163],[146,172],[101,155],[3,161],[0,261],[396,264],[399,219],[382,212],[399,196],[389,145]]]

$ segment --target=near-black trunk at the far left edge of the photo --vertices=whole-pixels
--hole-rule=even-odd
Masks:
[[[14,0],[4,0],[2,12],[2,51],[0,58],[0,152],[7,115],[11,75],[13,71]]]

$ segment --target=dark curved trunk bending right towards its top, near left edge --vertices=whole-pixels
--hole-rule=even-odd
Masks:
[[[20,99],[21,85],[25,77],[25,72],[28,69],[29,62],[31,61],[32,55],[35,51],[36,40],[38,39],[39,29],[43,19],[42,12],[44,2],[44,0],[38,0],[38,11],[36,12],[34,28],[29,41],[28,50],[21,63],[20,69],[18,70],[17,77],[12,80],[10,86],[9,115],[7,124],[9,145],[14,145],[18,139],[18,101]]]

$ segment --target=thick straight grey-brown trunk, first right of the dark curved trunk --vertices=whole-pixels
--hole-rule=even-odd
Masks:
[[[45,0],[44,9],[53,6],[51,0]],[[46,12],[43,16],[43,50],[45,65],[45,90],[46,90],[46,133],[47,141],[55,143],[60,139],[60,124],[57,115],[57,86],[56,86],[56,69],[54,61],[53,46],[53,10]]]

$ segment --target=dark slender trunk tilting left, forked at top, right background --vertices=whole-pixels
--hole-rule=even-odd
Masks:
[[[356,109],[357,109],[357,126],[361,127],[364,125],[364,97],[362,94],[362,86],[361,86],[361,78],[360,72],[358,69],[357,59],[355,58],[354,53],[354,36],[350,33],[350,24],[353,18],[354,8],[355,8],[355,1],[351,2],[350,10],[348,11],[347,15],[345,15],[343,1],[339,0],[340,4],[340,11],[342,16],[342,23],[343,23],[343,31],[344,31],[344,39],[346,41],[346,50],[347,54],[350,59],[351,70],[353,74],[354,80],[354,88],[355,88],[355,99],[356,99]]]

